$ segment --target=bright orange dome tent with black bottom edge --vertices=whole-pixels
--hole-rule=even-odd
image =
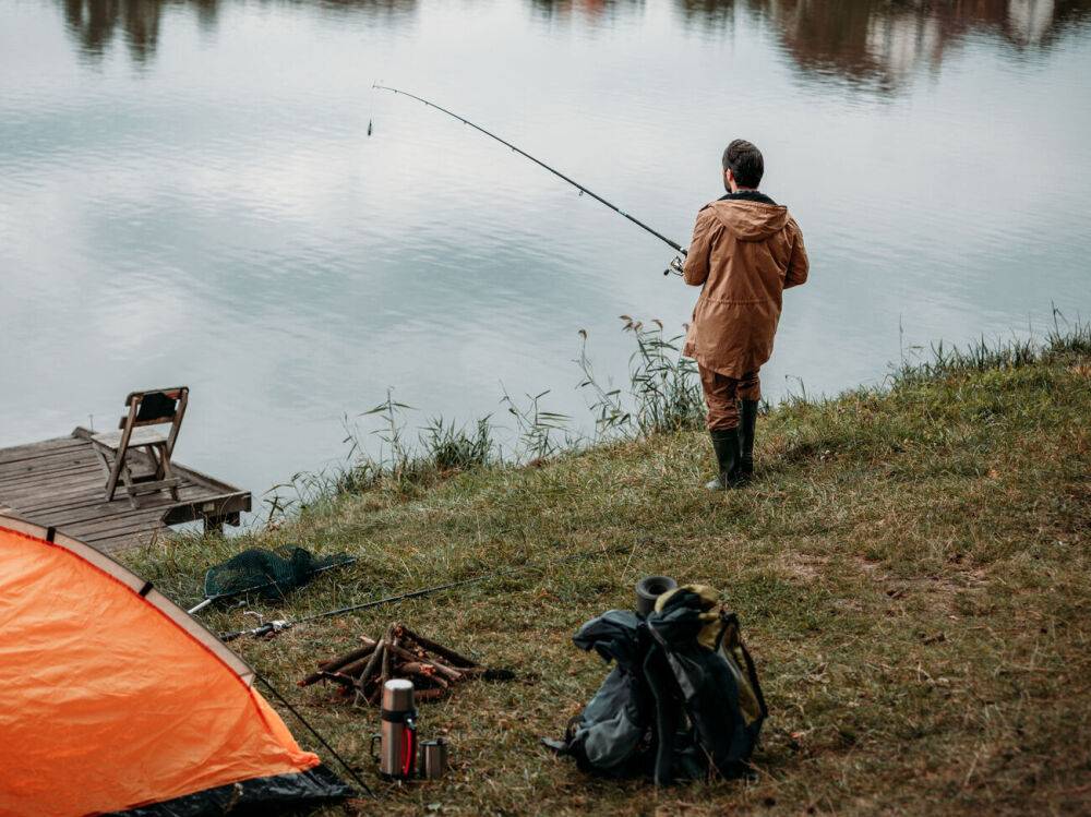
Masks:
[[[351,794],[253,681],[151,584],[0,516],[0,815],[221,814]]]

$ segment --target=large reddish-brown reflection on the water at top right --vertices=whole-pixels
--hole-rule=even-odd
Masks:
[[[999,37],[1015,53],[1048,49],[1087,22],[1091,0],[678,0],[682,19],[706,29],[744,13],[771,26],[812,79],[841,77],[892,91],[922,68],[937,69],[967,37]]]

